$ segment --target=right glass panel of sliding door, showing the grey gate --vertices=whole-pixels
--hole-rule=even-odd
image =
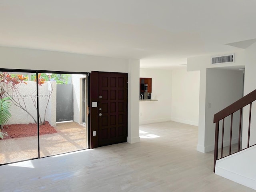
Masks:
[[[81,74],[38,74],[40,157],[88,148]],[[81,98],[81,99],[80,99]]]

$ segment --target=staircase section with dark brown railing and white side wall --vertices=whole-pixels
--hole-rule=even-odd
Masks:
[[[252,102],[256,100],[256,90],[247,94],[240,100],[234,102],[230,106],[224,108],[214,115],[215,127],[215,146],[214,146],[214,172],[224,178],[228,178],[234,182],[248,186],[256,190],[256,145],[250,145],[251,133],[251,115],[252,115]],[[245,108],[249,106],[249,109]],[[242,116],[243,111],[249,110],[248,117],[248,138],[241,141],[242,131]],[[239,113],[239,127],[233,127],[234,114]],[[230,122],[225,121],[230,120]],[[225,124],[230,127],[225,126]],[[221,126],[220,126],[221,125]],[[221,128],[220,128],[221,127]],[[232,145],[232,131],[238,130],[238,143],[234,150]],[[225,153],[224,148],[224,132],[229,132],[230,143],[228,151]],[[246,147],[242,149],[241,142],[246,142]],[[220,146],[219,146],[220,145]]]

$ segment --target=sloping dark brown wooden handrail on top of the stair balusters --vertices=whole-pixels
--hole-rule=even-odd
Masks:
[[[216,113],[213,117],[213,122],[216,123],[219,120],[231,115],[232,113],[240,110],[241,108],[245,107],[246,105],[250,104],[251,102],[256,100],[256,90],[250,92],[243,98],[237,100],[236,102],[232,103],[230,106],[224,108],[220,112]]]

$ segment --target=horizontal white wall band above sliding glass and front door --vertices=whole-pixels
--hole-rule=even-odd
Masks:
[[[128,60],[66,52],[0,46],[0,68],[68,72],[128,72]]]

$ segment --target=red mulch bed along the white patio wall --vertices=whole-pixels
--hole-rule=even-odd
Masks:
[[[37,124],[11,124],[4,125],[2,132],[7,132],[8,136],[4,136],[4,139],[29,137],[37,135]],[[45,122],[44,125],[39,126],[39,134],[52,134],[56,133],[54,127],[49,122]]]

